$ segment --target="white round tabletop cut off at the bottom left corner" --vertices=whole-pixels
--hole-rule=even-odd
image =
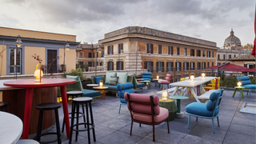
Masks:
[[[1,143],[16,143],[22,135],[22,120],[14,114],[0,111]]]

